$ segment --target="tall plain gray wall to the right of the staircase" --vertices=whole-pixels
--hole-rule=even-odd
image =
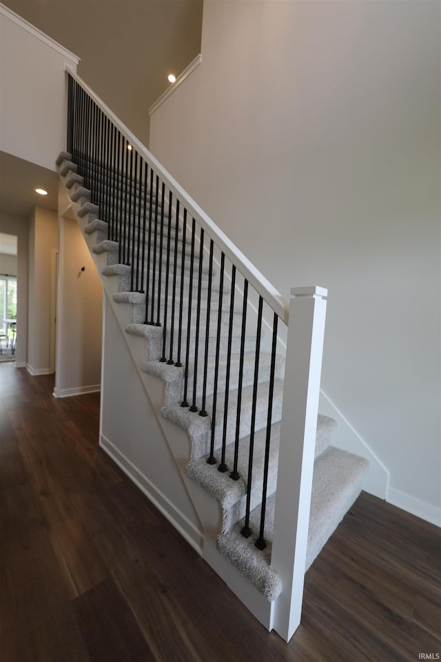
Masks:
[[[285,296],[329,288],[322,388],[440,516],[436,2],[205,2],[150,148]]]

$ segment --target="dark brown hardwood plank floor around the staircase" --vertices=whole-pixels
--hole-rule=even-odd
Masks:
[[[1,662],[437,659],[438,528],[363,493],[286,644],[99,449],[99,395],[52,390],[0,364]]]

